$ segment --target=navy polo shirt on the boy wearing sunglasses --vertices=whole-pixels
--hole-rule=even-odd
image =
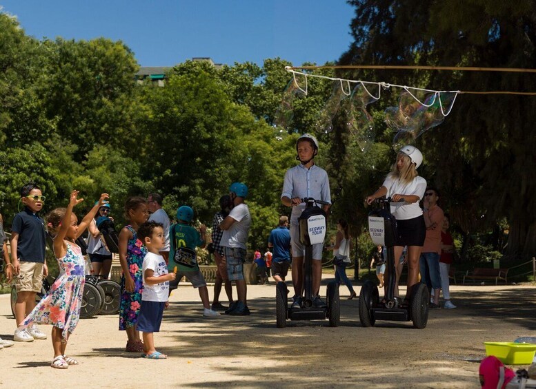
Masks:
[[[28,207],[17,213],[11,225],[11,232],[19,234],[17,257],[24,262],[45,262],[45,222]]]

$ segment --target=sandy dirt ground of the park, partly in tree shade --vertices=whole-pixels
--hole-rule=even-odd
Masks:
[[[362,328],[357,300],[346,299],[346,287],[340,290],[338,328],[328,322],[276,328],[274,284],[248,286],[250,316],[217,319],[202,317],[197,291],[180,286],[155,336],[157,349],[169,359],[124,352],[126,335],[117,330],[117,316],[97,316],[81,320],[70,339],[68,355],[79,366],[50,368],[50,335],[16,343],[0,350],[0,386],[479,388],[484,341],[536,336],[536,286],[453,286],[458,308],[430,311],[424,330],[410,322]],[[209,293],[212,298],[212,286]],[[49,326],[41,329],[50,334]],[[13,330],[9,295],[0,295],[0,336],[12,339]]]

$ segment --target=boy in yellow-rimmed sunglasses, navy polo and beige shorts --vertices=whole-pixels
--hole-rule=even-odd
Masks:
[[[43,285],[43,276],[48,275],[45,262],[45,223],[39,216],[45,196],[36,184],[30,182],[21,189],[21,202],[24,210],[17,213],[13,219],[11,262],[6,264],[9,268],[6,271],[8,280],[15,275],[17,327],[32,312],[35,306],[35,296],[41,291]],[[46,335],[35,324],[23,330],[15,330],[13,336],[14,341],[33,341],[34,339],[46,339]]]

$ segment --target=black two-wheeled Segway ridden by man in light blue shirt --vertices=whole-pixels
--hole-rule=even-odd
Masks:
[[[328,202],[304,198],[306,209],[299,217],[299,240],[305,246],[304,258],[304,292],[300,308],[288,308],[288,288],[285,282],[278,282],[275,287],[275,306],[277,328],[286,327],[286,320],[325,320],[329,319],[331,327],[339,325],[341,308],[339,302],[339,284],[333,280],[328,283],[327,308],[317,308],[312,304],[312,245],[324,243],[326,238],[326,213],[317,204]],[[304,294],[304,295],[303,295]]]

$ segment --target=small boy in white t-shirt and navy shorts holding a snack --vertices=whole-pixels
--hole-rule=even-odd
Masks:
[[[166,244],[163,224],[145,222],[139,227],[138,236],[148,251],[143,258],[143,295],[137,327],[143,333],[143,357],[166,359],[167,355],[155,349],[153,333],[160,330],[163,310],[169,305],[169,282],[177,275],[168,273],[168,264],[159,253]]]

